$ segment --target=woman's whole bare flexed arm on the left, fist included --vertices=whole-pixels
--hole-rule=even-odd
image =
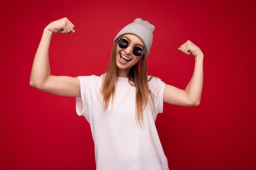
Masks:
[[[77,77],[51,75],[49,46],[54,33],[74,33],[74,25],[67,18],[56,20],[43,31],[31,69],[29,84],[41,91],[61,96],[80,97],[80,82]]]

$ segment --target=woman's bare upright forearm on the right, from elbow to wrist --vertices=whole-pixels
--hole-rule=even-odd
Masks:
[[[191,105],[198,106],[201,101],[203,88],[203,60],[204,55],[201,53],[195,57],[195,68],[189,84],[186,86],[186,93]]]

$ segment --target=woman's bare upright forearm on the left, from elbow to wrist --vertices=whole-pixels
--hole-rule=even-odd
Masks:
[[[49,64],[49,45],[51,38],[52,31],[45,29],[31,69],[29,84],[33,87],[42,88],[44,82],[51,74]]]

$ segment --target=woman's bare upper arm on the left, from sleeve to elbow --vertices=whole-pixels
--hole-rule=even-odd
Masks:
[[[50,75],[40,90],[60,96],[81,97],[78,77]]]

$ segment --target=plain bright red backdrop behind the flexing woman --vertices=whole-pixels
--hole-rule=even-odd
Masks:
[[[93,170],[90,126],[75,98],[29,86],[45,26],[67,17],[73,35],[55,34],[54,75],[101,75],[112,41],[140,17],[155,25],[148,72],[185,88],[194,59],[177,47],[191,40],[204,52],[201,105],[164,104],[156,121],[171,170],[255,170],[255,2],[249,0],[1,1],[0,169]]]

